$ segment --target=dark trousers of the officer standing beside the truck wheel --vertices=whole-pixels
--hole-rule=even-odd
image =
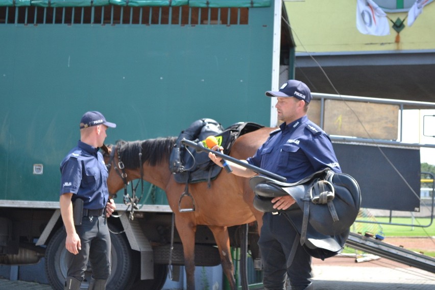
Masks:
[[[107,280],[110,276],[110,233],[104,216],[83,217],[82,225],[76,226],[82,249],[77,255],[67,252],[67,276],[83,281],[88,261],[94,279]]]

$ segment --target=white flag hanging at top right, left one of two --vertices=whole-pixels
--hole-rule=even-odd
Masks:
[[[363,34],[377,36],[390,34],[390,26],[385,12],[372,0],[357,0],[356,28]]]

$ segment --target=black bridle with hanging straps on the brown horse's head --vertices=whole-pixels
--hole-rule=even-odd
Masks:
[[[133,216],[134,211],[139,209],[137,204],[140,202],[140,200],[143,197],[142,147],[139,148],[139,154],[138,154],[139,155],[139,168],[140,168],[140,184],[141,184],[141,194],[140,194],[139,198],[137,198],[137,196],[136,196],[136,189],[137,189],[137,186],[139,185],[139,181],[137,182],[135,187],[133,187],[133,183],[131,183],[131,190],[132,190],[131,197],[128,194],[127,186],[129,184],[129,181],[127,180],[127,173],[125,172],[124,162],[121,160],[121,154],[120,154],[119,149],[120,149],[120,146],[117,146],[117,145],[114,146],[114,148],[110,152],[109,162],[106,164],[106,166],[107,166],[107,171],[110,174],[110,170],[111,170],[112,165],[113,165],[115,172],[118,174],[120,179],[122,179],[122,181],[124,182],[124,204],[127,206],[127,210],[131,206],[130,220],[133,220],[134,219],[134,216]],[[118,154],[118,163],[115,162],[115,152]],[[116,194],[114,197],[116,198]]]

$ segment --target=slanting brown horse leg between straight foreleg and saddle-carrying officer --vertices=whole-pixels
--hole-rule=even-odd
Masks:
[[[234,265],[230,252],[230,237],[228,236],[227,227],[221,226],[208,226],[213,233],[216,245],[218,245],[219,254],[221,256],[222,270],[225,276],[227,276],[230,283],[231,290],[236,289],[234,279]]]

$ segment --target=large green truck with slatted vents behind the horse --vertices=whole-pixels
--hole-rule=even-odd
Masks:
[[[0,264],[45,257],[48,280],[62,286],[59,165],[85,111],[117,124],[111,144],[177,136],[200,118],[269,125],[263,92],[278,85],[280,9],[271,0],[0,0]],[[116,203],[127,209],[123,194]],[[135,214],[143,230],[109,219],[124,231],[112,235],[109,288],[160,289],[168,248],[153,265],[135,240],[171,227],[164,192],[147,184]],[[197,236],[213,244],[206,228]],[[210,248],[198,250],[198,265],[215,263]]]

